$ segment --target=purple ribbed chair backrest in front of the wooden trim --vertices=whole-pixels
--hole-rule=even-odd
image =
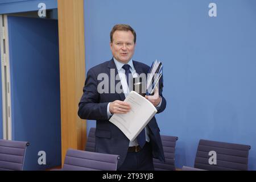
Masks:
[[[69,149],[63,171],[116,171],[119,156]]]

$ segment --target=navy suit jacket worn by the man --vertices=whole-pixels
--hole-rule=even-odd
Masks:
[[[150,67],[148,65],[133,61],[136,72],[140,75],[141,73],[147,74]],[[110,74],[112,69],[112,74]],[[114,75],[113,75],[114,70]],[[106,73],[109,78],[110,75],[118,75],[117,68],[114,60],[106,61],[105,63],[96,65],[89,69],[84,86],[84,94],[82,94],[81,101],[79,102],[79,117],[81,119],[96,120],[96,152],[115,154],[119,155],[118,168],[122,165],[125,160],[127,150],[129,147],[129,139],[108,119],[107,107],[109,102],[115,100],[125,100],[124,93],[110,93],[110,86],[115,86],[119,80],[109,81],[109,92],[98,93],[97,86],[102,80],[97,80],[100,73]],[[110,78],[110,79],[112,79]],[[113,78],[114,79],[114,78]],[[114,84],[114,85],[113,85]],[[115,88],[115,87],[114,87]],[[163,80],[159,81],[159,95],[162,97],[162,104],[158,113],[161,113],[166,108],[166,99],[162,95]],[[153,117],[148,123],[150,129],[150,144],[152,146],[152,155],[154,158],[158,158],[164,161],[163,146],[160,139],[159,127],[156,123],[156,118]]]

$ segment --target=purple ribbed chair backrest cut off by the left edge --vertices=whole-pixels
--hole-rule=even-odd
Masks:
[[[22,171],[28,144],[0,139],[0,171]]]

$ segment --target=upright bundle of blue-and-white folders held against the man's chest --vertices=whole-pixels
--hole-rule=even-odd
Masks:
[[[146,94],[151,95],[155,87],[158,85],[158,82],[160,78],[163,75],[163,65],[160,61],[155,60],[150,68],[150,71],[148,72],[147,76],[147,88],[146,88]]]

